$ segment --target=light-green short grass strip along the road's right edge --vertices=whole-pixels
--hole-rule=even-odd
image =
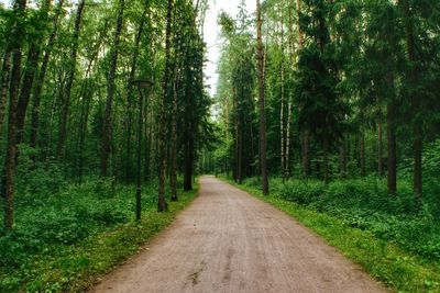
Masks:
[[[394,241],[381,239],[370,230],[353,228],[343,218],[282,199],[279,190],[264,196],[254,185],[238,185],[231,180],[223,180],[295,217],[389,289],[398,292],[440,292],[438,261],[402,249]]]

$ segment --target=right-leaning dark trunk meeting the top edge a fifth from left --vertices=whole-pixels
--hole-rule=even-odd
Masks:
[[[70,93],[72,93],[72,86],[73,86],[74,79],[75,79],[76,57],[78,54],[78,45],[79,45],[79,30],[81,26],[81,18],[82,18],[82,11],[84,11],[85,3],[86,3],[86,0],[81,0],[78,3],[78,9],[76,12],[76,18],[75,18],[75,29],[74,29],[73,40],[72,40],[72,52],[70,52],[70,58],[69,58],[69,65],[68,65],[67,81],[66,81],[66,88],[65,88],[64,97],[63,97],[64,101],[63,101],[62,119],[61,119],[61,123],[59,123],[58,143],[56,145],[56,157],[58,159],[62,157],[62,154],[64,150],[64,145],[65,145],[66,138],[67,138],[67,120],[68,120],[68,114],[69,114],[69,109],[70,109]]]

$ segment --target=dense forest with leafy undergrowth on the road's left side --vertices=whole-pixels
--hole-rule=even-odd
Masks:
[[[180,191],[193,190],[199,150],[213,137],[206,9],[189,0],[0,3],[0,291],[44,279],[30,273],[35,259],[75,255],[85,239],[131,223],[135,209],[152,222],[130,238],[140,245],[184,205],[150,211],[167,211],[178,194],[188,201]],[[92,258],[94,270],[118,253]]]

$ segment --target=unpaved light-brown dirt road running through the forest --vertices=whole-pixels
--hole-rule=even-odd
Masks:
[[[212,177],[175,223],[94,292],[385,292],[304,226]]]

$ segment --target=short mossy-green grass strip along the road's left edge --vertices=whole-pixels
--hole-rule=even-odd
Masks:
[[[167,213],[156,212],[155,206],[143,210],[139,225],[134,222],[120,224],[59,253],[36,256],[28,268],[20,270],[21,273],[11,272],[8,280],[21,283],[19,292],[86,292],[100,277],[133,256],[167,227],[196,194],[197,188],[180,193],[178,202],[168,203]],[[3,289],[8,286],[4,282],[2,285]]]

